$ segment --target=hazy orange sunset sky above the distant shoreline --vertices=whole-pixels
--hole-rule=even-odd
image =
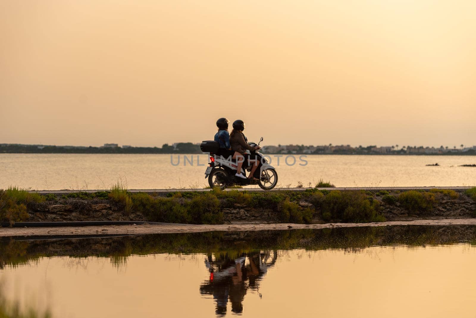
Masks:
[[[0,143],[476,145],[476,1],[0,0]]]

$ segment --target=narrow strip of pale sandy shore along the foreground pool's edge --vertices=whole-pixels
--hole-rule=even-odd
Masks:
[[[328,224],[221,224],[221,225],[108,225],[87,227],[54,227],[54,228],[0,228],[1,236],[30,235],[101,235],[101,234],[156,234],[186,233],[208,231],[258,231],[282,229],[324,229],[333,227],[365,227],[389,225],[476,225],[476,219],[439,219],[416,221],[389,221],[376,223],[328,223]]]

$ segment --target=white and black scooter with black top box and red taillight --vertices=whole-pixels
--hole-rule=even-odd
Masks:
[[[261,141],[263,141],[263,137],[259,139],[258,145],[254,142],[250,142],[249,145],[259,147]],[[223,190],[234,185],[248,186],[258,184],[261,189],[271,190],[278,183],[278,173],[276,172],[276,169],[269,165],[268,159],[266,159],[266,157],[264,157],[258,150],[247,150],[248,154],[255,155],[256,160],[258,160],[258,168],[253,174],[253,177],[256,179],[242,179],[235,176],[238,170],[236,159],[224,158],[223,156],[218,155],[219,145],[217,141],[202,141],[200,149],[204,153],[208,153],[210,156],[210,162],[208,163],[209,167],[205,170],[205,179],[208,178],[208,185],[212,189],[214,187],[219,187]],[[247,167],[247,164],[247,162],[244,162],[240,171],[245,176],[245,170],[250,172],[252,167],[251,165]]]

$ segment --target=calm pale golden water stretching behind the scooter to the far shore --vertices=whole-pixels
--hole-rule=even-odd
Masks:
[[[300,165],[305,162],[299,155],[294,165],[286,155],[278,165],[278,158],[271,155],[278,186],[314,185],[321,178],[337,187],[476,185],[476,168],[459,167],[476,163],[476,156],[307,155],[301,159],[306,160],[305,166]],[[118,178],[127,180],[129,189],[203,188],[208,185],[207,160],[206,155],[196,154],[0,154],[0,188],[109,189]],[[425,166],[436,162],[440,166]]]

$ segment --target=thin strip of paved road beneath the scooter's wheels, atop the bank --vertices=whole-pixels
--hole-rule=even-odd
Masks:
[[[472,187],[349,187],[349,188],[317,188],[319,190],[429,190],[429,189],[451,189],[451,190],[464,190],[471,189]],[[293,191],[304,191],[311,188],[278,188],[272,189],[271,191],[280,191],[280,190],[293,190]],[[229,190],[238,190],[238,191],[264,191],[260,188],[240,188],[240,189],[227,189]],[[30,190],[30,192],[36,192],[41,194],[67,194],[71,192],[97,192],[104,191],[101,189],[98,190]],[[129,192],[189,192],[189,191],[210,191],[210,189],[129,189]]]

